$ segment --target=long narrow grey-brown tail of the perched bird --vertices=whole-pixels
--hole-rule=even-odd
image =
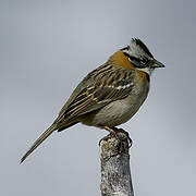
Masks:
[[[21,159],[21,163],[49,136],[57,130],[56,124],[52,124],[46,132],[44,132],[40,137],[33,144],[28,151]]]

